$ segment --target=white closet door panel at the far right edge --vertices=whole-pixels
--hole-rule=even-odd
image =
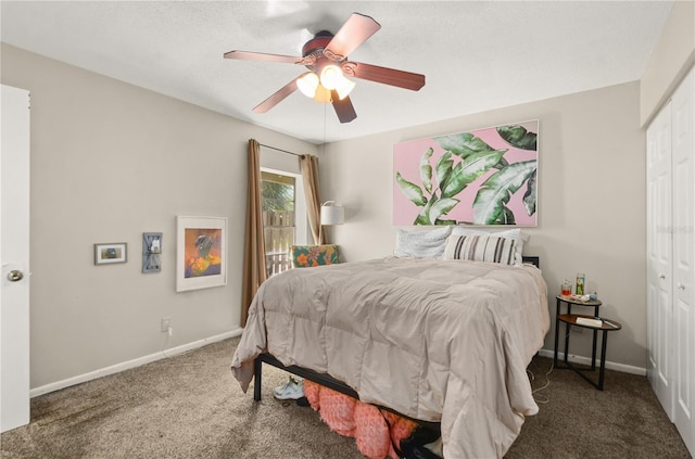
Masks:
[[[671,100],[673,151],[673,423],[695,454],[695,71]]]

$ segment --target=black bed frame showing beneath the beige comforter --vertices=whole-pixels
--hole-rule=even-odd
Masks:
[[[533,266],[535,266],[536,268],[539,267],[539,257],[538,256],[523,256],[523,263],[530,263]],[[289,373],[292,374],[296,374],[300,378],[304,378],[306,380],[313,381],[317,384],[320,384],[323,386],[332,388],[333,391],[338,391],[341,394],[345,394],[349,397],[353,397],[355,399],[359,399],[359,395],[357,394],[357,392],[355,392],[352,387],[350,387],[348,384],[345,384],[342,381],[338,381],[337,379],[332,378],[330,374],[327,373],[318,373],[314,370],[309,370],[307,368],[303,368],[303,367],[298,367],[296,365],[290,365],[290,366],[285,366],[282,365],[282,362],[280,362],[280,360],[278,360],[277,358],[275,358],[275,356],[273,356],[269,353],[263,353],[261,355],[258,355],[258,357],[256,357],[256,359],[253,362],[253,399],[256,401],[261,401],[261,385],[262,385],[262,367],[263,364],[268,364],[271,365],[273,367],[279,368],[280,370],[285,370]],[[412,421],[417,422],[420,425],[425,425],[429,429],[434,429],[434,430],[439,430],[440,429],[440,423],[439,422],[432,422],[432,421],[422,421],[420,419],[414,419],[414,418],[409,418],[407,416],[404,416],[391,408],[388,407],[382,407],[382,406],[377,406],[379,409],[383,409],[387,411],[391,411],[395,415],[402,416],[404,418],[410,419]]]

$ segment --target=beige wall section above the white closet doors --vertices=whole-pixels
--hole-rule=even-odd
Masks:
[[[695,1],[675,1],[642,75],[640,122],[646,126],[695,64]]]

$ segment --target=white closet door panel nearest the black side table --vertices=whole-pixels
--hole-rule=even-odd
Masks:
[[[647,378],[672,418],[671,106],[647,129]]]

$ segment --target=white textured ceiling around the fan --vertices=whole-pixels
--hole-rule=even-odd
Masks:
[[[314,143],[633,81],[671,1],[7,1],[2,41]],[[305,71],[223,59],[301,55],[353,12],[381,29],[349,59],[426,75],[417,92],[356,80],[357,118],[299,91],[252,109]],[[30,88],[29,88],[30,89]]]

